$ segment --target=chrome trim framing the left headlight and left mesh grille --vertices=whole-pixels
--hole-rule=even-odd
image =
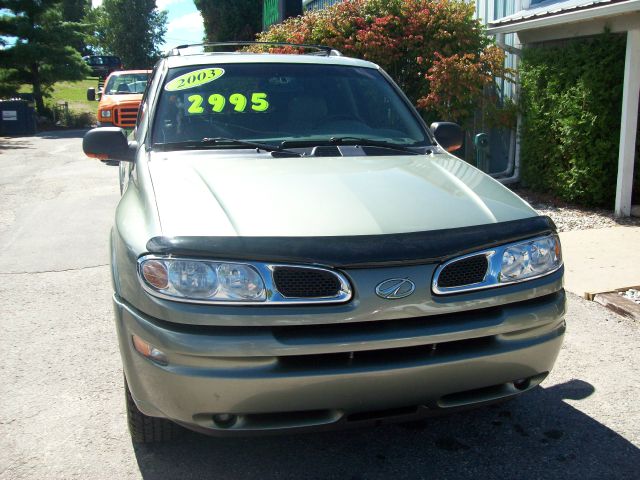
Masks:
[[[243,301],[243,300],[206,300],[206,299],[196,299],[196,298],[188,298],[181,297],[177,295],[168,295],[166,293],[160,292],[150,286],[144,279],[142,275],[142,264],[147,260],[176,260],[176,261],[187,261],[187,262],[203,262],[205,264],[222,264],[222,263],[231,263],[235,265],[246,265],[253,267],[258,271],[260,277],[262,277],[262,281],[264,283],[264,288],[266,291],[266,299],[265,300],[253,300],[253,301]],[[276,268],[301,268],[305,270],[318,270],[327,272],[333,276],[335,276],[340,282],[340,291],[337,295],[333,297],[313,297],[313,298],[302,298],[302,297],[285,297],[282,295],[275,286],[275,281],[273,279],[273,272]],[[311,265],[300,265],[300,264],[284,264],[284,263],[262,263],[262,262],[246,262],[246,261],[233,261],[228,259],[211,259],[211,258],[197,258],[197,257],[182,257],[182,256],[172,256],[172,255],[142,255],[138,258],[136,270],[138,274],[138,281],[140,285],[149,295],[152,295],[157,298],[161,298],[163,300],[171,300],[174,302],[182,302],[182,303],[196,303],[202,305],[226,305],[226,306],[236,306],[236,305],[251,305],[255,307],[259,306],[272,306],[272,305],[316,305],[316,304],[332,304],[332,303],[346,303],[353,297],[353,290],[351,288],[351,284],[347,280],[347,278],[340,272],[336,270],[332,270],[330,268],[311,266]]]

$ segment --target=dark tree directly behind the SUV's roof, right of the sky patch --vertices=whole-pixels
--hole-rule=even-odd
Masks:
[[[209,42],[253,40],[262,28],[262,0],[194,0]]]

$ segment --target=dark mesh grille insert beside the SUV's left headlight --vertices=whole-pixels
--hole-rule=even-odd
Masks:
[[[278,291],[287,298],[335,297],[341,287],[335,274],[311,268],[276,267],[273,281]]]

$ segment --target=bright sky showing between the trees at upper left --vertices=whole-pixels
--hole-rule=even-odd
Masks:
[[[92,0],[92,3],[95,7],[100,5],[102,0]],[[165,44],[160,47],[160,51],[164,52],[185,43],[202,42],[204,26],[193,0],[156,0],[156,5],[159,10],[168,12]]]

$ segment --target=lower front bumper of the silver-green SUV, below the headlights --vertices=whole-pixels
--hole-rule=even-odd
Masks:
[[[565,302],[560,290],[366,328],[244,328],[168,323],[114,296],[125,374],[140,410],[212,434],[406,418],[516,395],[553,367]],[[169,364],[142,357],[133,334],[162,350]],[[238,417],[221,426],[215,414]]]

